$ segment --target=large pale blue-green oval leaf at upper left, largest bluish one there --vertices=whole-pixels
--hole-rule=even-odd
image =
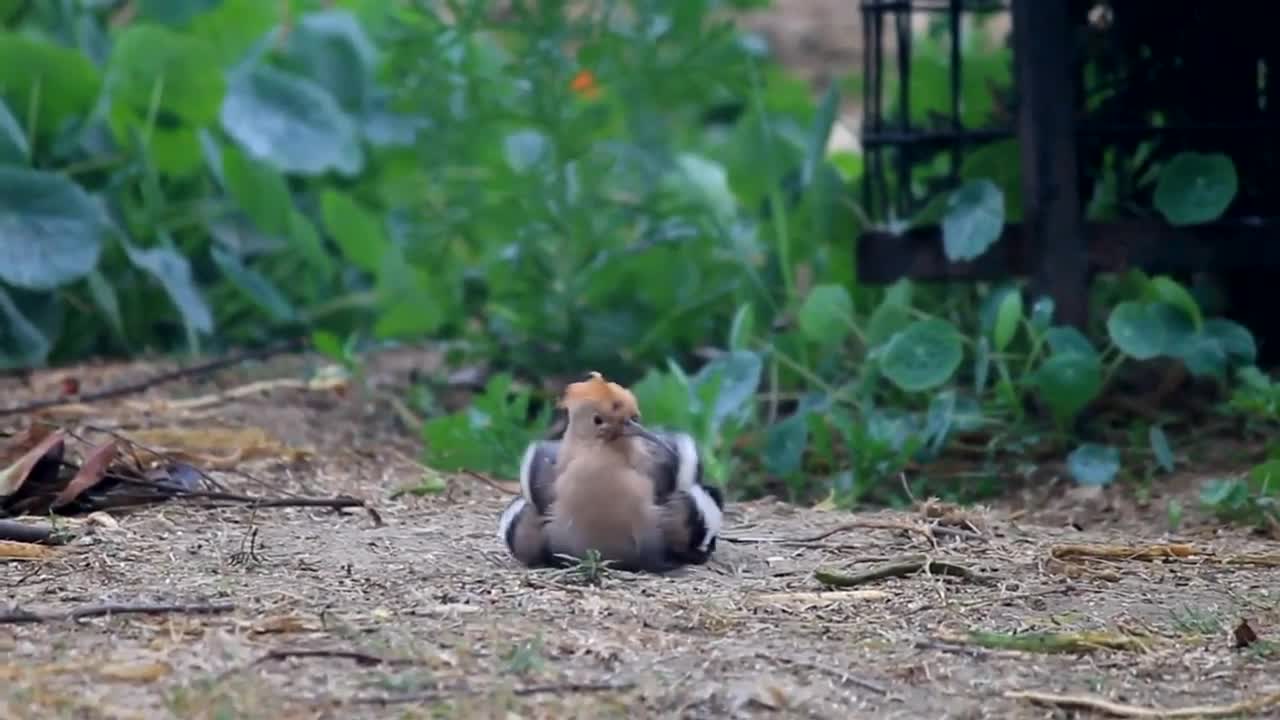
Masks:
[[[353,176],[365,165],[356,124],[333,95],[270,65],[232,79],[221,122],[250,155],[285,173]]]

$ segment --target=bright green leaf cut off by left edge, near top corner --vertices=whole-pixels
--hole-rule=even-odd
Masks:
[[[45,136],[88,115],[102,77],[82,53],[17,33],[0,33],[0,97],[36,118]],[[35,105],[35,106],[33,106]]]

